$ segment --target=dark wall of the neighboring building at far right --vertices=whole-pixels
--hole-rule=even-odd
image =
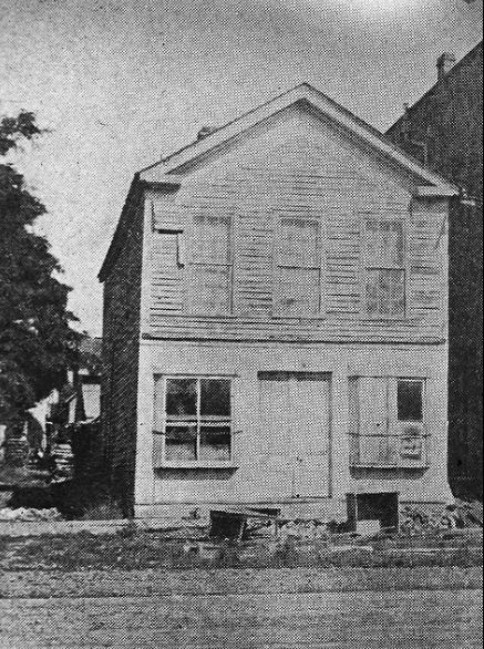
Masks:
[[[411,106],[387,133],[465,188],[450,218],[450,480],[482,497],[483,470],[483,44]]]

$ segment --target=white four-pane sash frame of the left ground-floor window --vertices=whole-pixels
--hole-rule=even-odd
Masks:
[[[233,411],[233,391],[231,391],[231,380],[226,377],[164,377],[158,378],[158,381],[162,381],[163,384],[163,399],[156,396],[156,383],[155,383],[155,409],[162,408],[162,413],[156,413],[155,415],[155,426],[156,421],[159,421],[159,414],[162,414],[162,429],[161,432],[164,436],[164,447],[163,447],[163,457],[166,462],[176,463],[179,462],[203,462],[203,461],[214,461],[214,462],[225,462],[231,460],[231,452],[233,452],[233,422],[231,422],[231,411]],[[167,393],[168,393],[168,382],[169,381],[177,381],[177,380],[195,380],[196,381],[196,413],[195,414],[167,414],[166,405],[167,405]],[[155,380],[156,381],[156,380]],[[213,415],[213,414],[205,414],[202,413],[202,381],[224,381],[228,383],[228,414],[225,415]],[[167,431],[168,429],[168,431]],[[193,457],[169,457],[167,453],[167,446],[171,445],[171,437],[167,433],[169,433],[171,429],[179,429],[181,433],[183,429],[186,429],[187,435],[190,429],[194,430],[194,456]],[[213,456],[209,457],[209,444],[203,443],[203,430],[208,431],[213,429],[214,434],[215,431],[226,429],[227,430],[227,444],[226,449],[219,450],[219,457]],[[156,432],[156,431],[155,431]],[[178,433],[178,436],[179,434]],[[189,435],[188,435],[189,436]],[[206,434],[205,434],[206,436]],[[219,436],[223,436],[219,433]],[[214,437],[213,437],[214,439]],[[188,442],[187,442],[188,443]],[[213,452],[214,453],[214,452]],[[216,455],[216,453],[215,453]]]

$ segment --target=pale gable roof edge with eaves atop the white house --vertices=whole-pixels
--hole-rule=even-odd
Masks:
[[[369,148],[387,158],[389,163],[395,164],[403,171],[421,178],[423,185],[419,188],[421,195],[456,196],[459,194],[459,188],[455,185],[445,181],[434,172],[431,172],[419,161],[401,151],[397,145],[387,140],[387,137],[377,128],[373,128],[373,126],[370,126],[367,122],[353,115],[350,111],[328,97],[319,90],[312,87],[309,83],[301,83],[231,122],[228,122],[225,126],[213,131],[203,140],[192,142],[155,164],[137,172],[134,175],[120,223],[114,233],[104,264],[100,270],[100,280],[105,280],[112,265],[115,262],[117,255],[124,246],[130,229],[132,209],[140,200],[143,186],[166,187],[181,185],[183,177],[179,174],[176,174],[181,167],[197,158],[202,158],[209,152],[223,151],[231,141],[234,141],[234,138],[244,132],[249,131],[257,124],[260,124],[270,116],[280,113],[285,109],[289,109],[289,106],[294,106],[295,104],[307,106],[313,114],[331,121],[350,136],[362,142]]]

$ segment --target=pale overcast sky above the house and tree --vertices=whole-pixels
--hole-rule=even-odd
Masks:
[[[19,164],[82,327],[137,169],[301,81],[385,130],[481,23],[482,0],[0,0],[0,113],[51,128]]]

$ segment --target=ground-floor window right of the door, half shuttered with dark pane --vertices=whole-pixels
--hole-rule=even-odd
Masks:
[[[425,381],[393,377],[350,380],[351,464],[426,465]]]

